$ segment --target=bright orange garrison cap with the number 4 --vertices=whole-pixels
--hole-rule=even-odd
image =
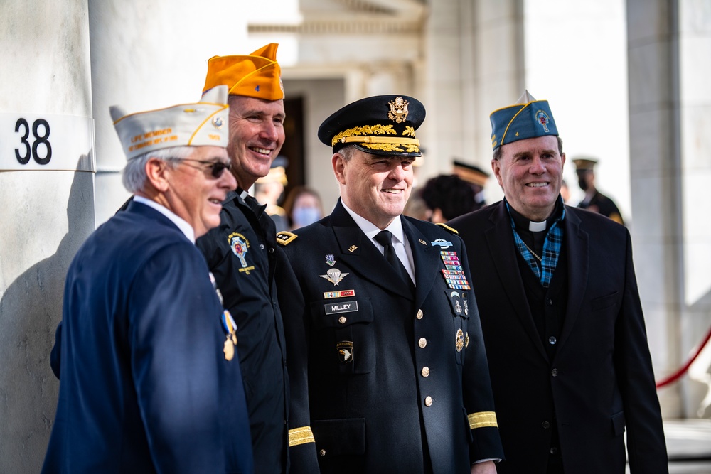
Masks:
[[[226,85],[230,95],[284,99],[278,47],[277,43],[269,43],[250,55],[213,56],[208,60],[203,94],[215,86]]]

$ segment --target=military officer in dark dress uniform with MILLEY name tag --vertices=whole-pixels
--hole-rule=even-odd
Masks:
[[[381,95],[328,117],[341,199],[277,236],[292,473],[493,473],[503,457],[464,246],[401,215],[424,114]]]

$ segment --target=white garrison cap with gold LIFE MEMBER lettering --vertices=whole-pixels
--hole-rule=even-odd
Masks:
[[[228,87],[213,87],[196,104],[126,114],[109,107],[126,158],[173,146],[227,146]]]

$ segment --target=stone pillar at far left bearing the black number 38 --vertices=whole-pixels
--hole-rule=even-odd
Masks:
[[[38,473],[71,259],[94,230],[87,0],[0,1],[0,472]]]

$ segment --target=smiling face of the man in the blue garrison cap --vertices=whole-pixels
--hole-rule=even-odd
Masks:
[[[491,168],[509,205],[540,222],[555,208],[564,164],[557,137],[547,135],[502,145],[501,156],[491,161]]]

